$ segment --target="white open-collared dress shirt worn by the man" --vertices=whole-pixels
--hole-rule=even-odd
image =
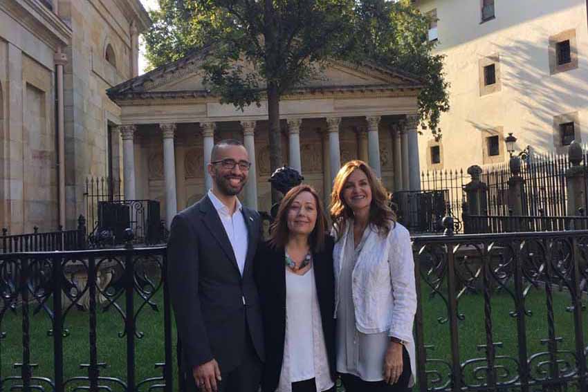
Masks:
[[[212,201],[214,208],[217,209],[219,218],[221,218],[223,227],[225,227],[232,251],[235,253],[235,259],[237,259],[237,265],[239,265],[239,271],[241,272],[241,276],[243,276],[245,259],[247,257],[247,246],[249,244],[247,226],[245,225],[245,217],[243,216],[243,205],[237,199],[237,207],[231,215],[228,207],[217,196],[214,196],[212,190],[208,191],[208,197]]]

